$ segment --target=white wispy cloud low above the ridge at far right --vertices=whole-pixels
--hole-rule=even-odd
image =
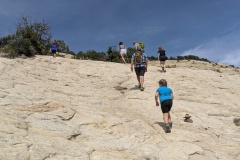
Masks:
[[[240,67],[240,31],[208,40],[182,55],[196,55],[208,60]]]

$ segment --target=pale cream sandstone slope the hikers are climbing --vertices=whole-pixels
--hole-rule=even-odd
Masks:
[[[239,69],[167,63],[151,62],[141,92],[129,65],[0,58],[0,159],[240,159]],[[170,134],[154,103],[162,78],[175,95]]]

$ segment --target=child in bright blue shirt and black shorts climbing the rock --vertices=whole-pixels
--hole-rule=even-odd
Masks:
[[[159,81],[159,88],[155,93],[155,102],[156,106],[159,106],[158,99],[161,103],[161,109],[163,113],[163,120],[166,124],[166,132],[170,133],[172,128],[172,121],[170,111],[173,104],[173,92],[171,88],[167,87],[167,81],[165,79],[161,79]]]

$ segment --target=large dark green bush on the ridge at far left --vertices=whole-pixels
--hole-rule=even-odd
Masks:
[[[1,45],[7,46],[9,56],[34,56],[46,54],[52,35],[50,26],[44,20],[32,22],[30,18],[22,17],[16,26],[16,32],[1,38]]]

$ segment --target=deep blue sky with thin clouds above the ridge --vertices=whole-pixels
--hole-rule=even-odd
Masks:
[[[239,0],[1,0],[0,37],[17,20],[44,19],[53,39],[75,53],[106,52],[122,41],[145,43],[148,56],[162,45],[168,56],[197,55],[240,67]]]

